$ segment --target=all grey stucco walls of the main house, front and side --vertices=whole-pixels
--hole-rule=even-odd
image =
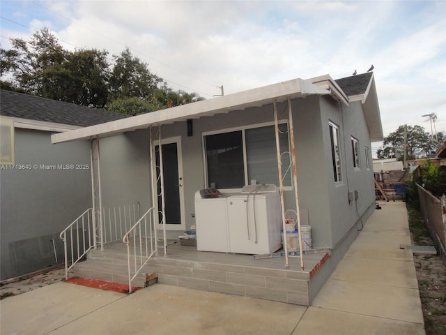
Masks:
[[[369,207],[374,204],[369,132],[362,105],[357,102],[346,107],[329,96],[309,96],[294,99],[292,109],[300,208],[308,211],[313,246],[334,248],[360,220],[360,216],[364,215],[364,221],[367,219]],[[278,103],[277,110],[279,118],[282,115],[282,119],[288,119],[286,103]],[[181,137],[186,229],[194,223],[194,195],[206,186],[203,133],[273,121],[270,104],[194,119],[192,136],[187,136],[186,122],[162,126],[163,139]],[[341,183],[334,183],[329,121],[339,126],[341,136]],[[353,169],[352,135],[360,142],[362,168],[359,171]],[[123,138],[120,140],[118,137]],[[102,202],[135,200],[148,208],[151,203],[148,130],[118,137],[101,139],[101,145],[108,144],[108,152],[101,147]],[[365,168],[364,146],[369,147],[369,170]],[[359,198],[349,203],[348,191],[358,191]],[[295,209],[294,191],[285,191],[284,198],[286,209]],[[182,233],[169,231],[168,237],[176,238]]]

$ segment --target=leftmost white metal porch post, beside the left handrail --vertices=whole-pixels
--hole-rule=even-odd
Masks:
[[[100,249],[104,250],[103,224],[102,224],[102,194],[100,187],[100,149],[99,137],[90,140],[91,161],[91,198],[93,200],[93,245],[97,248],[98,239]]]

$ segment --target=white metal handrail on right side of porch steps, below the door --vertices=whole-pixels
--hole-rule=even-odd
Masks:
[[[123,242],[127,245],[128,260],[128,292],[132,292],[132,281],[139,274],[139,271],[147,264],[148,260],[156,253],[156,246],[153,240],[156,238],[155,223],[151,215],[155,207],[152,207],[146,214],[141,216],[139,221],[133,225],[124,235]],[[131,238],[131,239],[130,239]],[[139,240],[139,241],[138,241]],[[143,243],[144,241],[144,243]],[[130,243],[133,244],[133,253],[131,253]],[[148,244],[150,243],[150,252]],[[139,244],[139,253],[137,253],[137,244]],[[144,248],[143,248],[144,246]],[[133,267],[130,266],[133,257]]]

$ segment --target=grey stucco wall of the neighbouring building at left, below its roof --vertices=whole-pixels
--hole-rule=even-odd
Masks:
[[[15,128],[15,164],[0,169],[1,280],[63,262],[60,232],[91,207],[89,144],[54,146],[51,133]],[[85,167],[85,166],[84,166]]]

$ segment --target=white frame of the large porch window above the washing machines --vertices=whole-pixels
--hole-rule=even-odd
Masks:
[[[279,120],[279,124],[288,124],[288,120]],[[242,144],[243,144],[243,165],[245,167],[245,183],[249,182],[248,180],[248,171],[247,171],[247,156],[246,156],[246,140],[245,140],[245,131],[248,129],[262,128],[267,126],[274,126],[274,121],[271,122],[263,122],[261,124],[249,124],[247,126],[239,126],[232,128],[223,128],[217,131],[205,131],[201,133],[201,150],[203,154],[203,168],[204,168],[204,186],[210,187],[208,185],[208,161],[206,159],[206,147],[205,147],[205,137],[208,135],[218,135],[224,133],[232,133],[233,131],[241,131],[242,132]],[[291,148],[290,137],[288,136],[288,147]],[[292,191],[293,190],[293,179],[291,178],[291,186],[284,186],[284,191]],[[220,189],[222,193],[238,193],[241,192],[241,188],[222,188]]]

